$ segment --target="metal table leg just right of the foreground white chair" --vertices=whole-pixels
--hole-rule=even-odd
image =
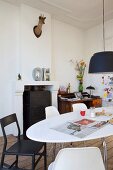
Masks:
[[[102,145],[103,145],[104,165],[105,165],[105,169],[107,170],[107,144],[105,138],[102,138]]]

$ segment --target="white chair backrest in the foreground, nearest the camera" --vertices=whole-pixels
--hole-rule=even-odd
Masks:
[[[64,148],[53,163],[52,170],[105,170],[99,148]]]

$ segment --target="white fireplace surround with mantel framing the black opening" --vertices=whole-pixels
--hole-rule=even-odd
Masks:
[[[14,112],[17,114],[17,118],[21,128],[21,134],[23,134],[23,93],[24,89],[33,87],[35,90],[45,90],[51,93],[51,105],[57,107],[57,94],[59,89],[59,84],[56,81],[32,81],[25,82],[23,80],[18,80],[16,82],[15,88],[15,100],[14,100]],[[28,89],[27,89],[28,90]]]

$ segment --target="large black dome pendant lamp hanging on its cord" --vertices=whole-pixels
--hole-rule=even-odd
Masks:
[[[104,29],[104,0],[103,0],[103,49],[95,53],[89,62],[89,73],[113,72],[113,51],[105,51],[105,29]]]

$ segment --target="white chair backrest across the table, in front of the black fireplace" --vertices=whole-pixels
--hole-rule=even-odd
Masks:
[[[45,108],[46,119],[58,116],[60,113],[55,106],[48,106]]]

